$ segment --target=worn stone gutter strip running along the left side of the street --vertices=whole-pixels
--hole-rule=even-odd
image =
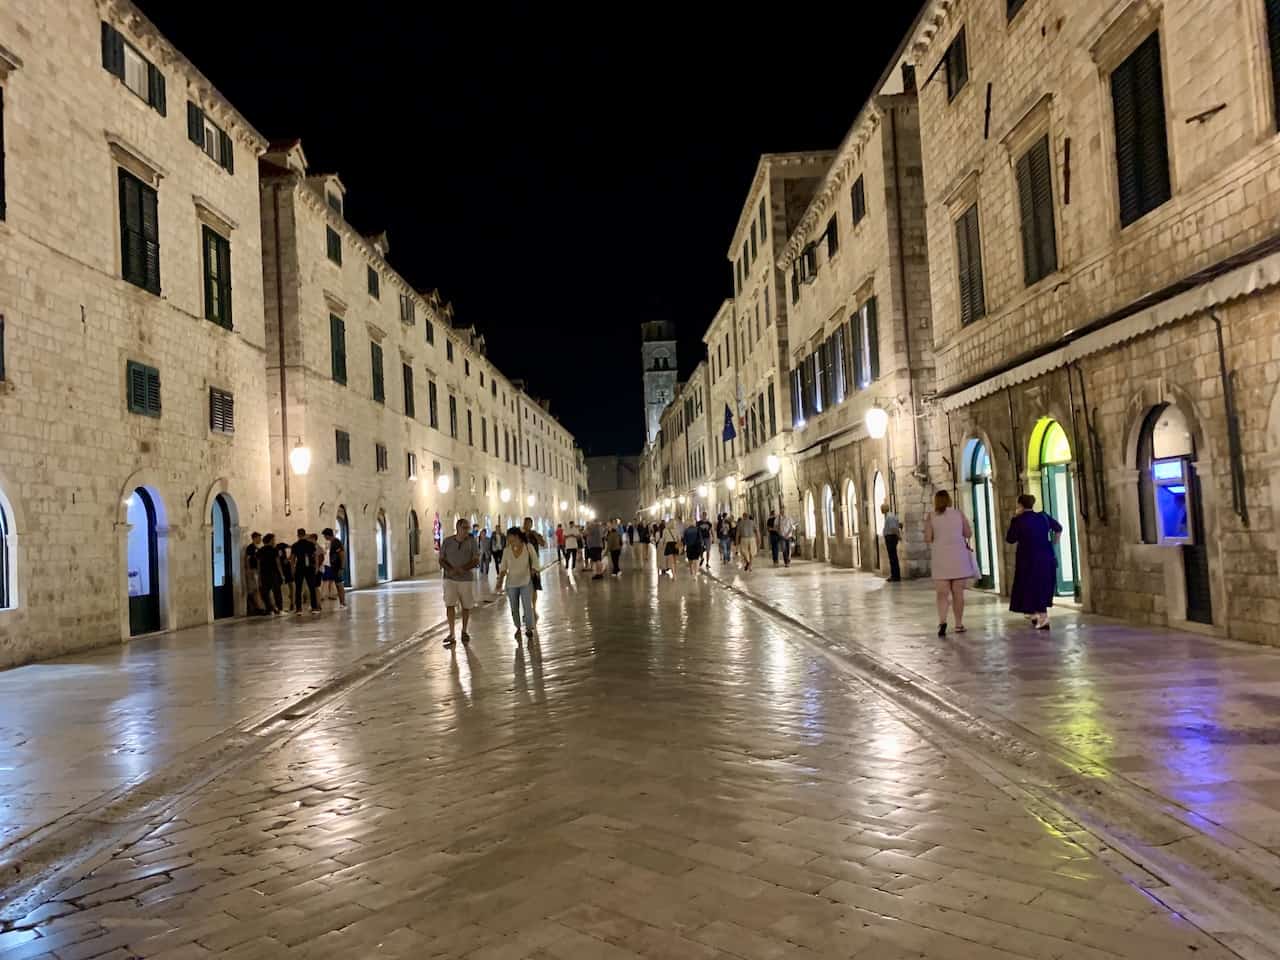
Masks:
[[[485,602],[488,605],[490,602]],[[370,653],[324,682],[183,751],[156,771],[108,791],[0,847],[0,932],[38,904],[146,836],[183,801],[219,776],[278,746],[319,718],[319,712],[394,667],[439,636],[444,621]]]

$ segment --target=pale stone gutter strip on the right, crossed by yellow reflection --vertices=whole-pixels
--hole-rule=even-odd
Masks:
[[[1231,950],[1221,941],[1222,934],[1244,933],[1260,943],[1280,942],[1280,919],[1270,906],[1280,890],[1280,858],[1216,824],[1190,823],[1199,818],[1103,764],[988,713],[959,691],[856,641],[835,640],[781,605],[705,572],[723,589],[795,627],[799,641],[923,721],[922,733],[946,736],[952,749],[966,754],[970,762],[1000,771],[1000,780],[1024,801],[1033,799],[1039,809],[1055,810],[1079,824],[1101,845],[1092,852],[1112,869],[1117,869],[1119,855],[1167,884],[1175,893],[1174,902],[1162,899],[1158,890],[1148,892],[1225,948]],[[1112,851],[1110,856],[1101,855],[1105,849]],[[1193,913],[1188,905],[1194,908]],[[1270,956],[1280,957],[1280,952]]]

